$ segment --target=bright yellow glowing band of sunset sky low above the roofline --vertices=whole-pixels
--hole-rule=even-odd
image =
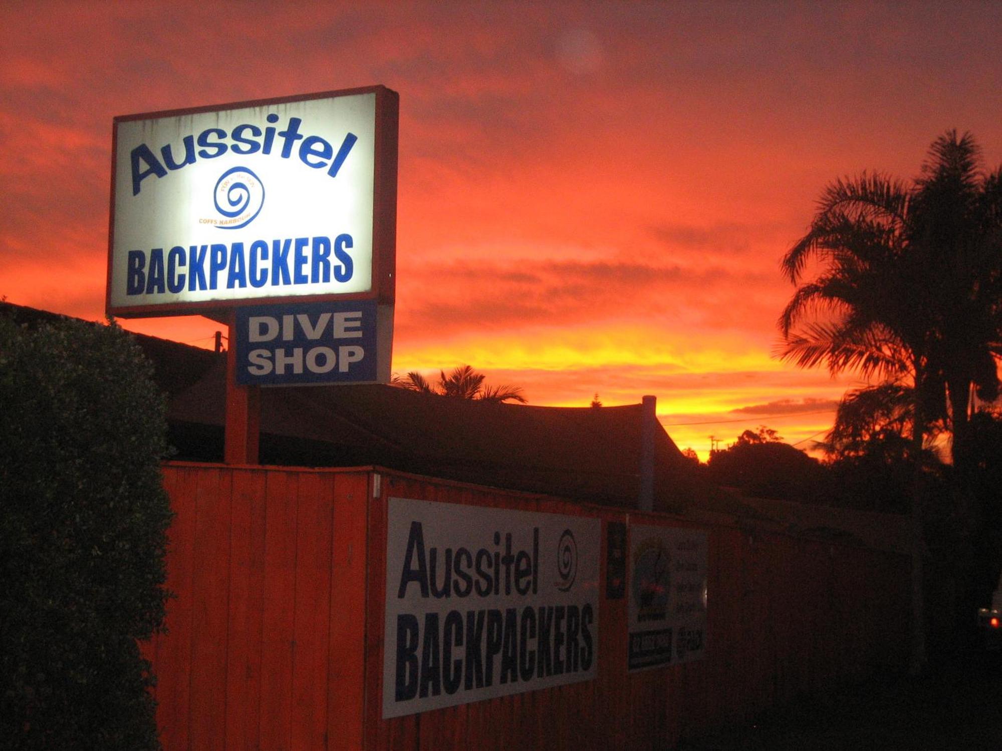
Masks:
[[[643,394],[657,397],[658,420],[679,449],[691,448],[699,460],[709,457],[710,436],[721,448],[744,430],[761,425],[776,429],[791,444],[809,449],[832,425],[830,402],[802,412],[742,412],[775,400],[771,377],[792,368],[773,358],[766,347],[725,334],[671,336],[658,329],[537,329],[534,336],[457,337],[445,343],[417,344],[398,351],[394,369],[422,371],[434,381],[439,369],[460,363],[488,372],[488,383],[522,386],[530,404],[586,407],[593,393],[607,407],[636,404]],[[494,371],[494,372],[492,372]],[[495,377],[495,372],[497,377]],[[747,373],[747,383],[718,383],[700,388],[701,377],[727,379]],[[594,389],[580,387],[594,383]],[[683,382],[684,385],[680,385]],[[571,385],[577,387],[571,389]],[[837,400],[845,386],[836,382],[785,386],[784,399],[804,404]],[[808,402],[810,405],[810,402]],[[822,435],[819,435],[822,434]]]

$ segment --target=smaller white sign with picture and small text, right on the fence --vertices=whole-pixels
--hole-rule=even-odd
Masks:
[[[705,655],[706,571],[705,532],[630,527],[630,671]]]

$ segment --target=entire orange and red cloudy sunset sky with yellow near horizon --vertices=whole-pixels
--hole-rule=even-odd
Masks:
[[[773,356],[779,259],[825,184],[914,177],[950,127],[1002,160],[1002,2],[819,5],[5,2],[0,295],[102,318],[114,115],[381,83],[395,370],[652,394],[703,459],[759,425],[805,447],[853,383]]]

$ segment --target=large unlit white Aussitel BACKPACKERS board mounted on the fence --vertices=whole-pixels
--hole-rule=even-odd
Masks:
[[[600,520],[388,503],[384,718],[595,677]]]

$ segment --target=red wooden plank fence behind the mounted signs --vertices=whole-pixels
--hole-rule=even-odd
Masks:
[[[167,751],[663,749],[907,656],[906,558],[721,524],[704,659],[627,673],[626,600],[603,582],[595,680],[383,720],[387,498],[692,525],[368,469],[163,476],[176,597],[146,652]]]

